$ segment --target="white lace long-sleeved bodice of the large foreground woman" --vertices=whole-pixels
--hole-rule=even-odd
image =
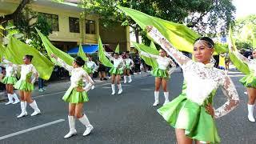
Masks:
[[[187,82],[187,98],[202,105],[210,93],[221,86],[228,100],[215,110],[214,117],[220,118],[238,106],[239,97],[234,83],[222,70],[215,69],[212,64],[204,65],[201,62],[193,62],[175,49],[154,27],[148,34],[182,67],[184,79]]]

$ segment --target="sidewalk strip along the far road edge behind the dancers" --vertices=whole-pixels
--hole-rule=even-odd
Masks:
[[[145,73],[142,72],[142,74],[134,74],[132,75],[132,78],[142,78],[142,77],[147,77],[150,76],[150,73]],[[98,84],[102,84],[102,83],[110,83],[110,79],[107,79],[106,81],[100,81],[99,78],[94,78],[94,82],[96,83],[96,85]],[[38,91],[38,85],[35,84],[34,85],[34,91],[32,92],[32,97],[36,97],[39,95],[43,95],[43,94],[54,94],[54,93],[58,93],[61,91],[65,91],[69,88],[70,86],[70,78],[65,78],[59,81],[54,81],[54,82],[46,82],[45,88],[46,90],[44,92],[39,92]],[[15,90],[15,93],[18,94],[18,90]],[[7,101],[7,94],[6,91],[1,91],[0,92],[0,102],[3,101]]]

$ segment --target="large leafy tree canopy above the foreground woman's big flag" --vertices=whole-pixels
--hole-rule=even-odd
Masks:
[[[72,1],[74,2],[74,1]],[[114,21],[122,22],[124,26],[134,29],[138,41],[138,34],[142,30],[116,8],[117,5],[130,7],[158,18],[171,22],[185,23],[198,31],[199,34],[216,36],[221,30],[226,34],[230,23],[234,22],[235,7],[231,0],[83,0],[77,1],[85,8],[86,14],[98,14],[102,26],[111,27]]]

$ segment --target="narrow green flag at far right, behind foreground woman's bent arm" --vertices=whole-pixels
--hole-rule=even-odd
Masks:
[[[234,50],[231,50],[231,47],[233,46]],[[245,62],[242,61],[241,58],[238,57],[237,54],[238,49],[236,48],[234,44],[234,39],[233,39],[233,32],[230,26],[230,31],[229,31],[229,55],[230,55],[230,60],[233,62],[234,66],[238,68],[239,71],[241,71],[243,74],[250,74],[250,69],[247,66]]]

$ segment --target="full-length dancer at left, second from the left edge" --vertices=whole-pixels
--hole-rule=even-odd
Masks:
[[[31,63],[33,56],[25,55],[23,57],[23,65],[16,65],[17,68],[21,68],[21,78],[15,83],[14,88],[19,90],[19,96],[21,98],[22,113],[17,118],[22,118],[27,115],[26,104],[29,103],[34,109],[34,113],[31,116],[41,114],[41,110],[38,109],[37,102],[31,98],[31,93],[34,90],[34,82],[38,78],[38,72]]]

